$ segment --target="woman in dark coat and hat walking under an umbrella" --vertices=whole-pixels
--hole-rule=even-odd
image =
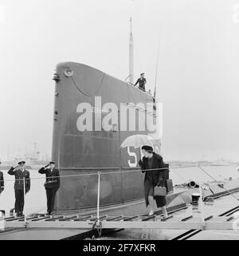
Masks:
[[[166,198],[165,196],[154,196],[155,186],[166,187],[166,169],[167,165],[163,162],[163,157],[159,156],[153,152],[153,148],[150,146],[143,146],[143,160],[139,161],[139,166],[142,172],[145,172],[144,176],[144,197],[146,202],[146,207],[149,205],[150,212],[149,215],[154,214],[154,199],[156,201],[157,207],[162,207],[163,216],[167,217],[166,210]],[[151,170],[143,171],[147,169],[161,169],[161,170]],[[163,169],[162,168],[166,168]]]

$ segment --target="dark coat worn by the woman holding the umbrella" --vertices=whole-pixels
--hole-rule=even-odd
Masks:
[[[147,164],[148,159],[143,156],[143,160],[139,161],[139,166],[142,169],[142,172],[145,172],[144,176],[144,196],[146,205],[148,205],[148,194],[151,187],[167,186],[167,165],[163,162],[163,157],[153,152],[153,164],[151,169],[161,169],[162,170],[151,170],[151,171],[143,171],[145,169],[150,169]],[[155,196],[156,203],[157,203],[158,196]],[[158,204],[158,203],[157,203]]]

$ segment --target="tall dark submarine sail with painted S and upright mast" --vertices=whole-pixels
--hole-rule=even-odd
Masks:
[[[52,159],[62,176],[55,202],[57,211],[96,207],[98,171],[101,172],[100,206],[120,206],[143,199],[143,175],[138,165],[140,148],[120,148],[128,136],[151,133],[147,125],[144,130],[139,127],[142,115],[145,120],[147,116],[152,118],[154,123],[157,118],[155,110],[140,108],[140,104],[155,102],[153,96],[131,85],[132,31],[129,77],[127,83],[88,65],[75,62],[57,65],[53,78],[56,85],[52,147]],[[123,112],[122,106],[126,106],[127,112]],[[113,110],[117,114],[109,120]],[[104,120],[108,120],[107,128]],[[160,140],[154,140],[154,148],[160,152]]]

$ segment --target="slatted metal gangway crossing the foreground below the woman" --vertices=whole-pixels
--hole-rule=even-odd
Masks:
[[[160,215],[152,216],[40,216],[4,219],[8,228],[63,228],[63,229],[170,229],[170,230],[235,230],[235,217],[209,216],[202,221],[201,217],[189,215],[182,218],[169,215],[163,219]]]

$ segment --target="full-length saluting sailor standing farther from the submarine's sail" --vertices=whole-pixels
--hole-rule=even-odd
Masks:
[[[17,217],[24,216],[24,183],[25,178],[25,193],[30,190],[30,176],[29,171],[25,170],[25,161],[18,162],[18,165],[10,167],[7,172],[9,175],[15,176],[14,190],[15,190],[15,213]]]

